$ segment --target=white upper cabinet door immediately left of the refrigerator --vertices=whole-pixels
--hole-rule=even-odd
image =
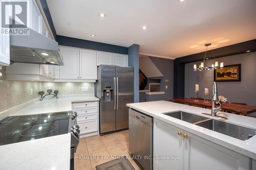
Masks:
[[[80,79],[97,79],[96,52],[80,50]]]

